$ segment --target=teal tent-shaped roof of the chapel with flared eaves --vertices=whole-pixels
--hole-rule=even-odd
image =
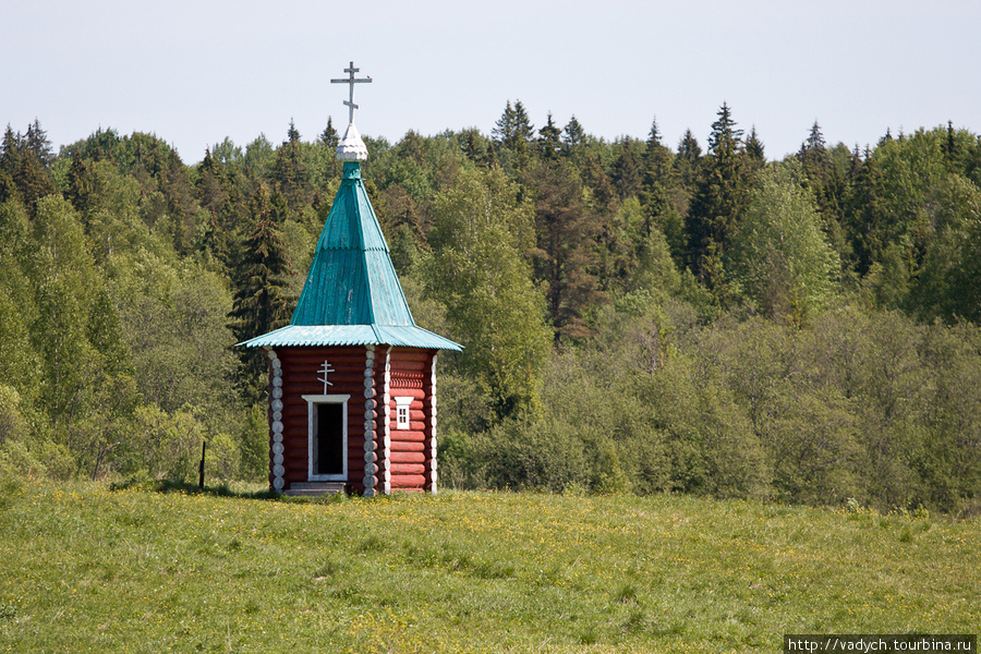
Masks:
[[[461,350],[412,319],[358,161],[344,161],[340,189],[289,326],[239,344]]]

